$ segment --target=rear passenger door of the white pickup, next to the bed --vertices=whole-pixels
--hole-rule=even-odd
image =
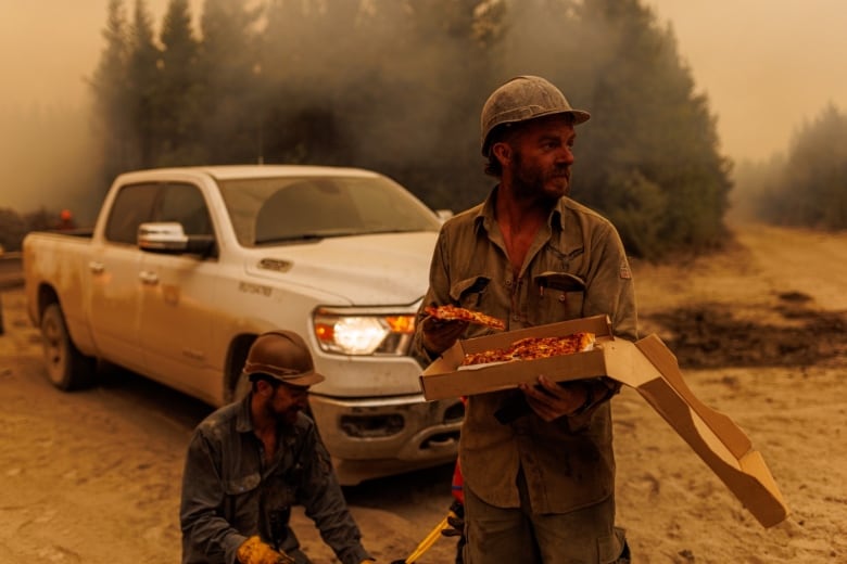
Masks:
[[[155,185],[122,187],[112,202],[103,243],[93,247],[91,271],[91,333],[101,355],[136,372],[143,372],[138,341],[141,251],[138,226],[149,220]]]

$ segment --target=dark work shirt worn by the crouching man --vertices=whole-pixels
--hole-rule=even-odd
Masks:
[[[182,475],[182,564],[233,564],[239,546],[253,535],[298,551],[289,527],[294,504],[305,508],[343,564],[370,557],[315,423],[299,413],[293,425],[280,426],[277,453],[266,465],[251,397],[218,409],[194,430]]]

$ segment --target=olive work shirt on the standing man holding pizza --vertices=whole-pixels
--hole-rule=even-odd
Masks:
[[[422,306],[453,304],[482,311],[506,321],[507,331],[608,315],[616,335],[637,338],[632,275],[615,227],[562,197],[516,272],[494,215],[496,190],[442,226]],[[585,290],[542,289],[536,277],[544,273],[576,274]],[[422,307],[418,316],[420,328]],[[464,337],[491,332],[471,324]],[[422,366],[434,360],[422,346],[420,330],[413,356]],[[516,479],[522,469],[534,513],[567,513],[612,496],[615,458],[607,399],[620,384],[609,377],[583,382],[592,387],[594,405],[579,416],[551,423],[531,412],[501,424],[494,412],[514,389],[470,396],[459,441],[465,484],[492,505],[518,508]]]

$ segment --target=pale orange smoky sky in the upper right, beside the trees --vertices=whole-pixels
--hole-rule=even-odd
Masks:
[[[766,159],[832,103],[847,111],[847,2],[647,0],[673,27],[730,157]]]

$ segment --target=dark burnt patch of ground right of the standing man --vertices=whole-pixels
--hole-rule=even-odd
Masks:
[[[656,312],[681,368],[809,367],[847,354],[847,312],[822,311],[810,296],[785,292],[770,315],[750,319],[724,304],[697,303]]]

